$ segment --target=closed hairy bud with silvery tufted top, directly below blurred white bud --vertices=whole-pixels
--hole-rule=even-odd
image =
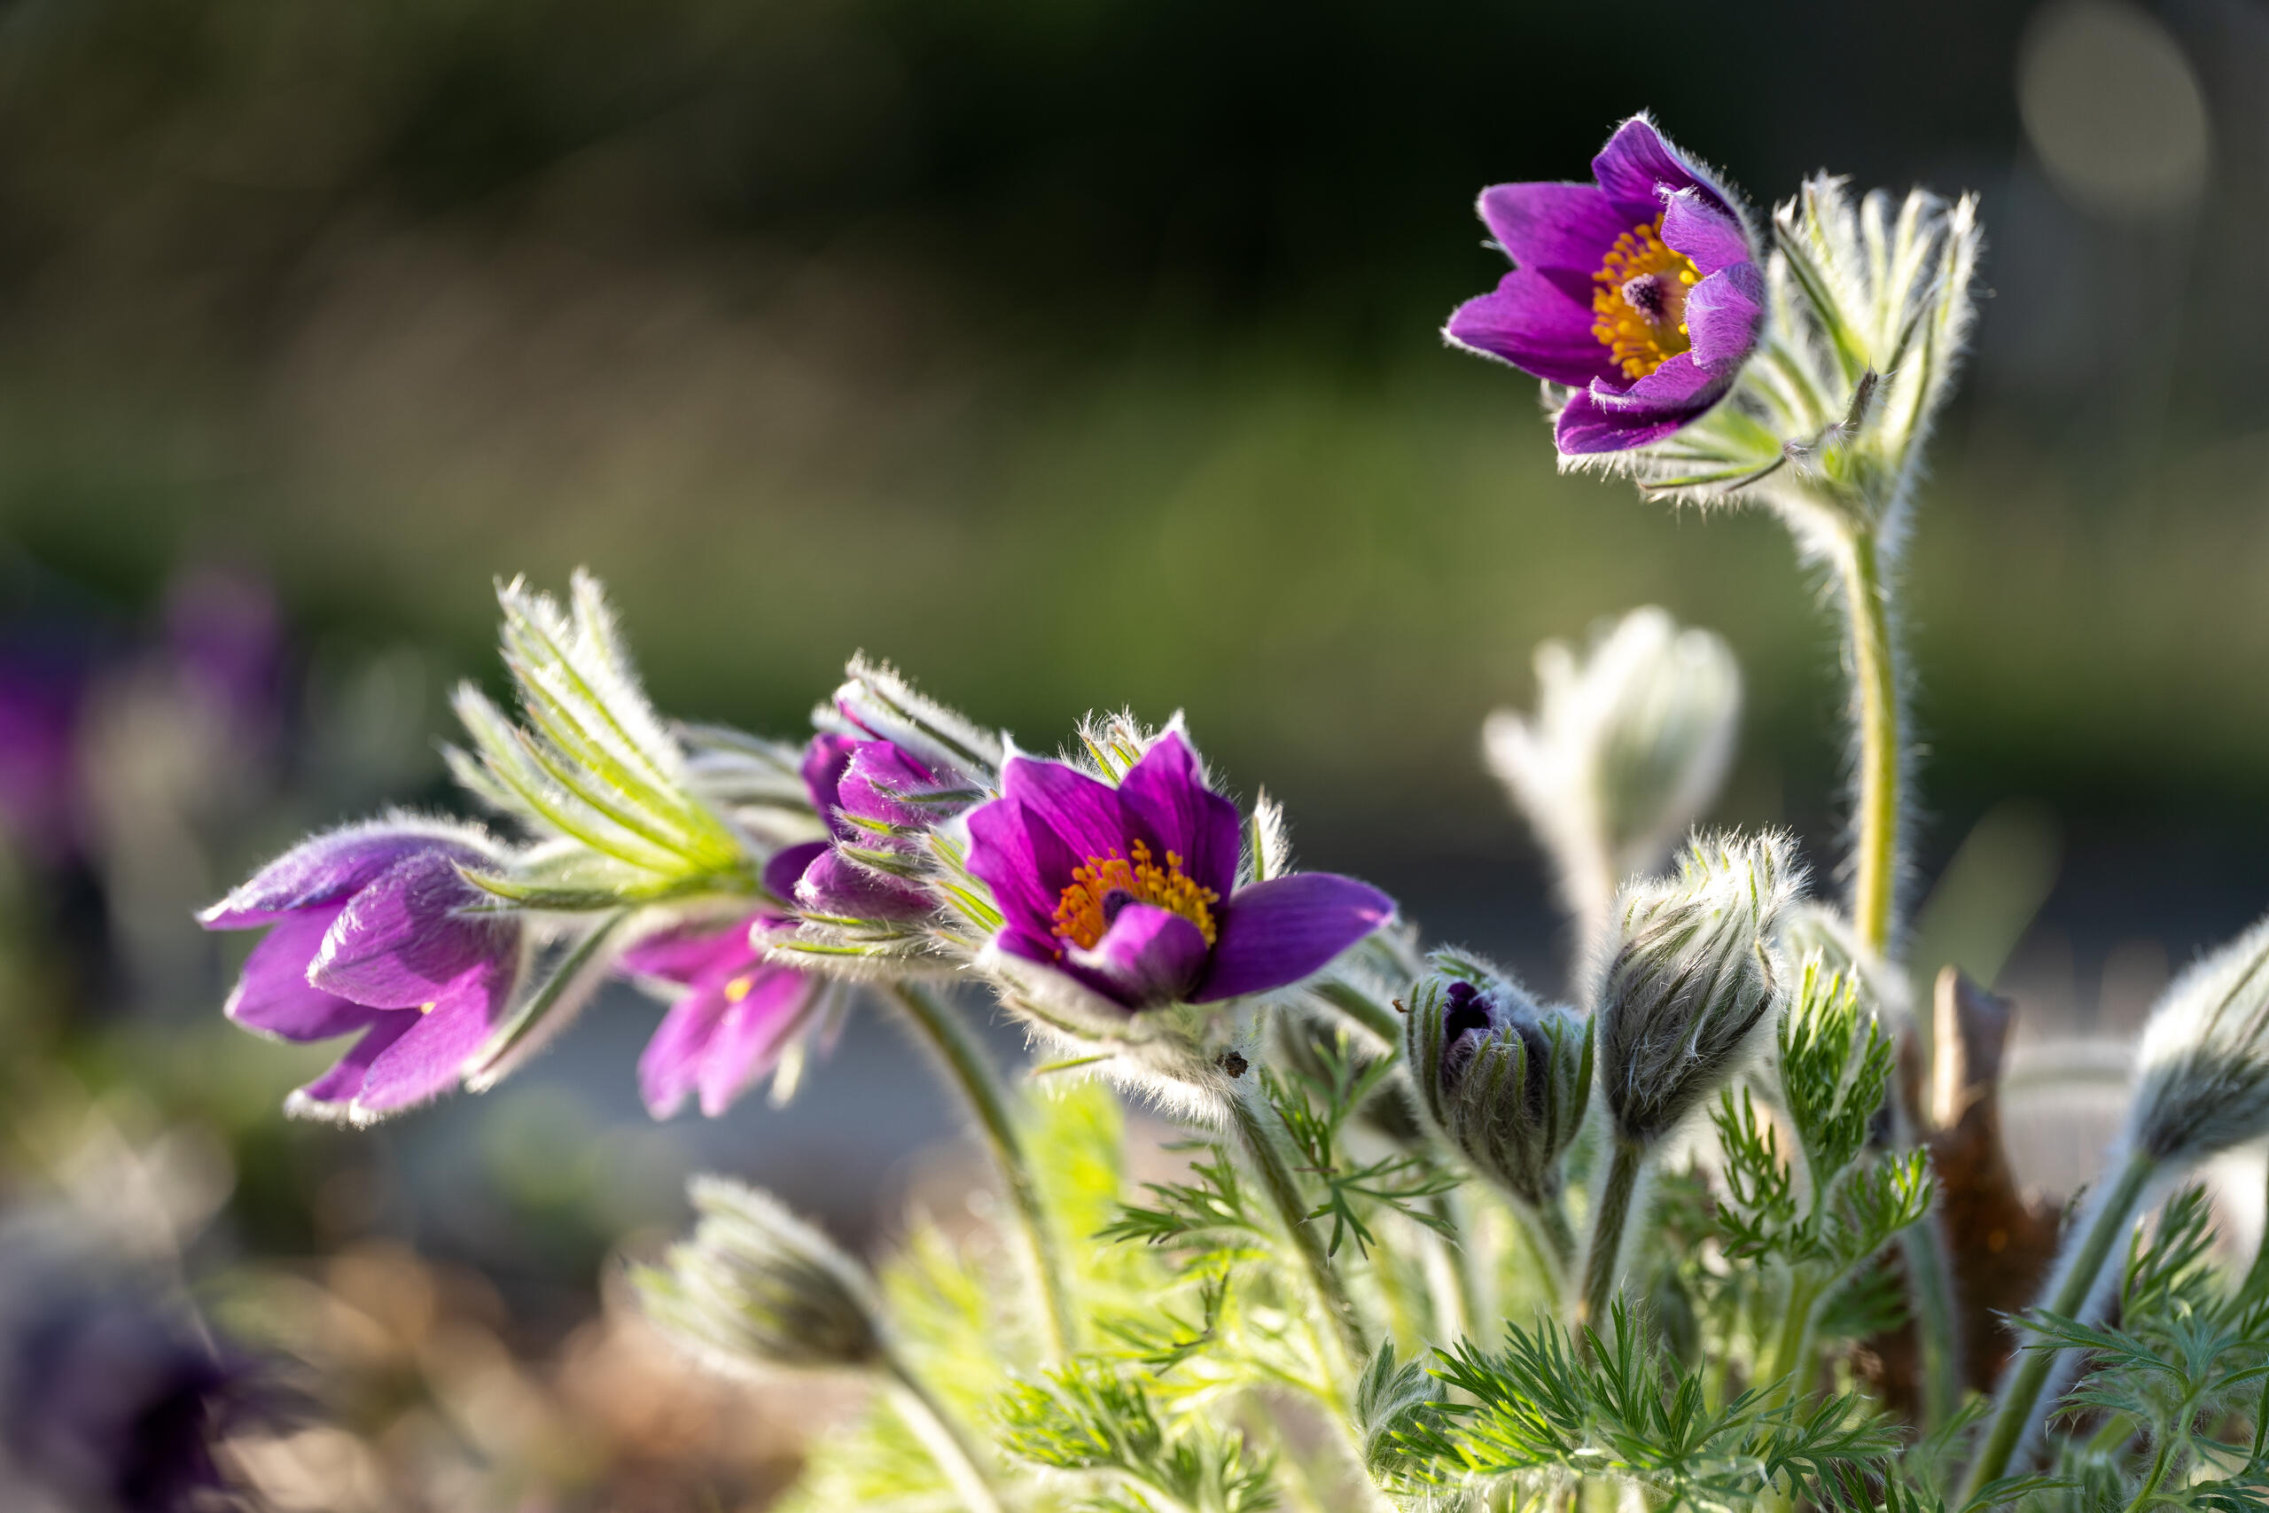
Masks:
[[[1709,1098],[1768,1018],[1779,916],[1804,887],[1783,835],[1695,837],[1675,878],[1616,901],[1600,982],[1600,1082],[1616,1132],[1652,1143]]]

